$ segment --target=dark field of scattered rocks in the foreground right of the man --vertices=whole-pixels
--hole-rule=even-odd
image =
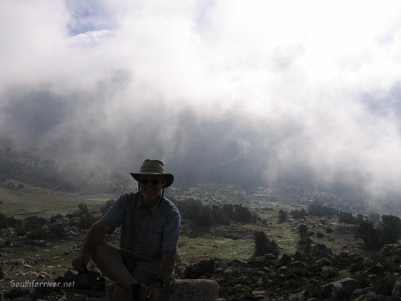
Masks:
[[[400,300],[401,244],[371,256],[349,251],[330,254],[323,244],[310,253],[266,254],[246,260],[181,262],[178,278],[219,283],[221,300]]]

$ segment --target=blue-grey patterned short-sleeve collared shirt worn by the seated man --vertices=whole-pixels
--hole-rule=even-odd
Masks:
[[[120,248],[131,255],[139,270],[157,274],[162,254],[177,252],[179,211],[164,197],[145,209],[139,191],[126,193],[101,220],[109,226],[110,233],[121,226]]]

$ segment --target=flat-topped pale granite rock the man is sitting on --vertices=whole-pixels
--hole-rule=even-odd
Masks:
[[[104,301],[113,300],[114,282],[106,285]],[[217,301],[219,284],[209,279],[177,279],[159,301]]]

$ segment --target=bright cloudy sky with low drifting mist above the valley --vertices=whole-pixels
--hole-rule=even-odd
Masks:
[[[3,146],[401,192],[398,1],[3,0],[0,45]]]

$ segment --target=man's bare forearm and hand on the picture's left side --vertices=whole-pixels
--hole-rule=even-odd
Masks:
[[[79,253],[72,261],[74,269],[79,270],[82,263],[85,266],[88,264],[90,252],[106,236],[108,231],[109,226],[103,221],[97,221],[92,225],[84,237]]]

